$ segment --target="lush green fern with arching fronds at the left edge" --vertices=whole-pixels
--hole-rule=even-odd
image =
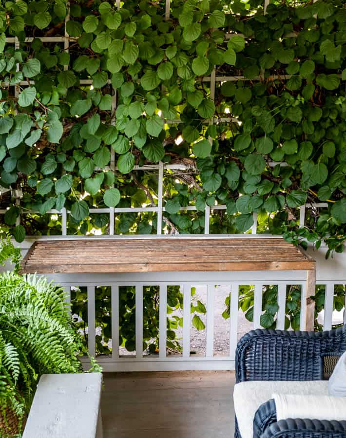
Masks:
[[[6,240],[7,254],[10,245]],[[14,411],[20,424],[42,374],[82,372],[78,356],[87,352],[65,298],[44,277],[0,274],[0,409],[3,416]],[[91,371],[100,371],[90,362]]]

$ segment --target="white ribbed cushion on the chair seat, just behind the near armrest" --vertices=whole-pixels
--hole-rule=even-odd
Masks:
[[[321,395],[273,394],[276,418],[346,420],[346,398]]]

